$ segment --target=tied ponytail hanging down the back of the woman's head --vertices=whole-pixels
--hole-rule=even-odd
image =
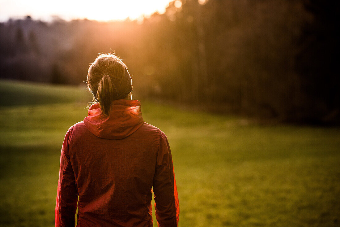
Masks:
[[[114,99],[116,89],[111,81],[111,77],[105,74],[98,84],[97,100],[105,117],[110,115],[111,103]],[[117,91],[116,91],[117,92]]]

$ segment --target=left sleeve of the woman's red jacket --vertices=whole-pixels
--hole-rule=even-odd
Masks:
[[[55,204],[55,226],[75,226],[78,192],[75,185],[74,173],[70,162],[69,139],[73,126],[65,135],[61,156],[57,199]]]

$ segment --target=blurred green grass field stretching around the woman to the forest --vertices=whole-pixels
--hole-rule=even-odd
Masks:
[[[61,145],[89,92],[1,80],[0,94],[0,226],[54,226]],[[141,104],[170,142],[180,226],[340,226],[340,128]]]

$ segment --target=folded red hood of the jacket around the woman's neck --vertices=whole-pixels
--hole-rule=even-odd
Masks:
[[[103,139],[123,139],[134,133],[144,123],[138,100],[115,100],[109,117],[105,117],[100,104],[90,106],[84,119],[86,128]]]

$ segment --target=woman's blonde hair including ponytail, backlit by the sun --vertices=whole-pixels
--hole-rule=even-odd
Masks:
[[[125,99],[132,91],[128,68],[115,54],[101,54],[87,73],[88,89],[92,92],[104,116],[109,116],[112,101]]]

